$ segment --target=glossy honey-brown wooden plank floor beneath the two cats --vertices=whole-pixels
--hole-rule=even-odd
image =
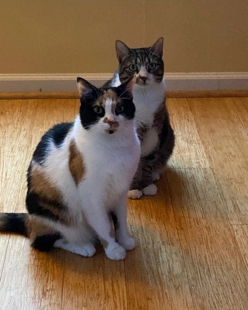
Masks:
[[[176,147],[158,194],[129,201],[124,261],[0,235],[0,310],[247,310],[248,98],[168,99]],[[0,100],[0,211],[25,211],[41,135],[78,100]]]

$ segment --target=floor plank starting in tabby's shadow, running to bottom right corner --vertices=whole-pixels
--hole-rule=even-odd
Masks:
[[[195,309],[247,309],[248,273],[213,173],[167,173]]]

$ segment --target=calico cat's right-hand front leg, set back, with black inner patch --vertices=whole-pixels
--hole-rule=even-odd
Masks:
[[[118,243],[123,246],[124,249],[132,250],[135,247],[135,241],[128,232],[126,209],[126,195],[124,195],[112,212],[112,217],[115,226],[115,236]]]

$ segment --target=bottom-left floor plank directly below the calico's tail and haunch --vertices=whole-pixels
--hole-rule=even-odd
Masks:
[[[29,241],[12,235],[0,280],[0,308],[60,310],[63,257],[31,249]]]

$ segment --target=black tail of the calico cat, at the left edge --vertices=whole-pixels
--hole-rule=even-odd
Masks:
[[[28,213],[0,213],[0,232],[28,236]]]

